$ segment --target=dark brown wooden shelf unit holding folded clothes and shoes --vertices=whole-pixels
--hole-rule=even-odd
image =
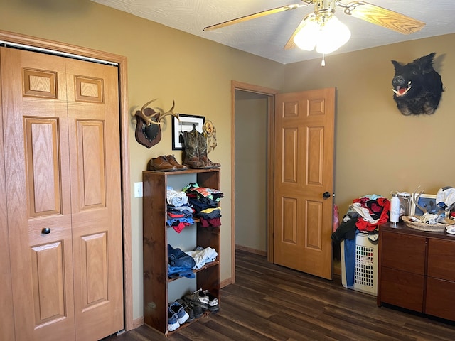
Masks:
[[[144,323],[168,334],[168,283],[181,278],[168,278],[168,229],[166,190],[168,180],[181,175],[194,175],[200,187],[220,190],[220,169],[176,172],[144,171],[143,180],[143,245],[144,245]],[[179,190],[175,188],[175,190]],[[220,302],[220,227],[201,227],[196,222],[196,245],[212,247],[217,260],[194,271],[197,288],[208,290]],[[183,250],[188,251],[188,250]],[[182,293],[182,296],[185,293]],[[195,319],[194,322],[197,322]],[[183,326],[185,326],[184,324]],[[170,333],[170,332],[169,332]]]

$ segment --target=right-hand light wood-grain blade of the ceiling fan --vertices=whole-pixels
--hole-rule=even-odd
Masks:
[[[420,31],[425,26],[423,21],[405,16],[390,9],[384,9],[380,6],[368,4],[364,1],[353,1],[349,4],[340,4],[338,6],[344,8],[344,13],[355,16],[369,23],[374,23],[385,28],[389,28],[392,31],[396,31],[403,34],[410,34]]]

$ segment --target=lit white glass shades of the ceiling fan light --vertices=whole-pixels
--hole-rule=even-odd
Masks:
[[[294,36],[294,43],[302,50],[311,51],[316,46],[318,53],[328,54],[341,48],[349,38],[348,26],[336,16],[331,16],[325,23],[312,17]]]

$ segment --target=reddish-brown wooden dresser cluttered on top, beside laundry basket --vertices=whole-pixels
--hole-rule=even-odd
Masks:
[[[455,320],[455,236],[379,227],[378,305]]]

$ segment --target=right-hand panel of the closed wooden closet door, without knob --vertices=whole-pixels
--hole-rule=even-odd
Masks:
[[[98,340],[123,328],[117,68],[68,60],[67,76],[76,338]]]

